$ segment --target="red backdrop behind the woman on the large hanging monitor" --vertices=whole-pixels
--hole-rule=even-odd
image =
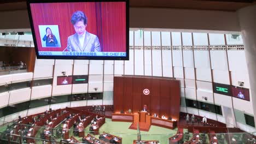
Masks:
[[[63,51],[74,34],[72,14],[88,17],[86,31],[97,35],[102,52],[126,52],[125,2],[36,3],[30,4],[38,51]],[[58,25],[61,47],[42,47],[38,25]]]

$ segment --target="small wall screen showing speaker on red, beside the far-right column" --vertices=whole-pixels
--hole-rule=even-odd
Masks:
[[[232,96],[250,101],[249,89],[232,86]]]

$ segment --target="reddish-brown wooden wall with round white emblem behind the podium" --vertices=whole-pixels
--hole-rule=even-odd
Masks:
[[[143,89],[150,94],[144,95]],[[150,115],[157,113],[179,120],[181,101],[180,82],[164,77],[116,76],[114,77],[114,112],[131,109],[133,113],[148,106]]]

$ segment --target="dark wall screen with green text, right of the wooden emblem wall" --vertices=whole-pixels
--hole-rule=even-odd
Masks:
[[[215,83],[213,82],[213,92],[218,93],[218,94],[224,94],[224,95],[232,95],[231,92],[231,86],[230,85],[225,85],[222,83]]]

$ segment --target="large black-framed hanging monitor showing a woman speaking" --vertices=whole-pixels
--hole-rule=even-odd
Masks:
[[[128,0],[28,0],[37,58],[129,60]]]

